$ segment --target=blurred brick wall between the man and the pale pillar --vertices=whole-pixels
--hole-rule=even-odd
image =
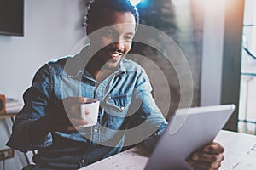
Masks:
[[[143,41],[133,43],[131,53],[139,55],[132,59],[146,69],[166,119],[177,108],[199,105],[203,7],[201,0],[152,0],[138,8],[141,22],[158,31],[138,30]]]

